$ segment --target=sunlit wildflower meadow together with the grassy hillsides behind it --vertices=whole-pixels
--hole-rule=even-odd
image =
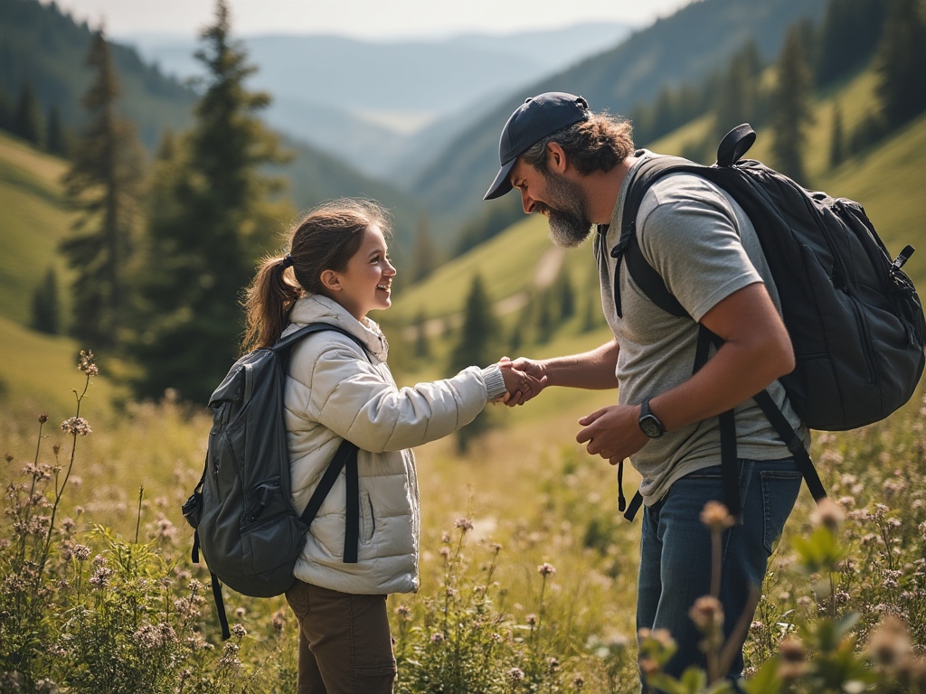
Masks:
[[[870,89],[865,73],[821,100],[813,141],[829,142],[837,99],[847,124],[864,118]],[[699,127],[651,146],[680,151]],[[769,138],[759,132],[750,154],[762,158]],[[815,183],[865,204],[892,251],[920,242],[926,118],[819,180],[825,166],[814,157]],[[0,691],[293,692],[296,632],[282,598],[227,592],[238,626],[222,643],[208,573],[190,559],[180,506],[201,473],[206,412],[131,403],[106,360],[99,375],[77,368],[85,345],[22,327],[69,224],[62,171],[0,136]],[[575,311],[537,341],[530,321],[563,268]],[[926,286],[926,248],[907,269]],[[544,220],[525,218],[373,316],[400,384],[447,375],[477,271],[498,308],[499,354],[571,353],[609,338],[587,316],[598,301],[591,249],[552,250]],[[431,352],[416,359],[419,316],[432,327]],[[614,397],[547,390],[523,407],[494,405],[494,427],[466,453],[453,439],[419,448],[421,590],[389,599],[398,692],[636,690],[639,524],[619,515],[615,470],[574,440],[578,418]],[[816,434],[835,504],[820,514],[802,490],[749,626],[748,691],[926,690],[924,422],[920,388],[881,424]],[[636,481],[627,471],[628,496]],[[644,656],[658,663],[667,649],[654,635]],[[707,691],[706,677],[660,686]]]

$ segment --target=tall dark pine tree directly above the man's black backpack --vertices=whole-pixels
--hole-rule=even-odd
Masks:
[[[777,65],[772,95],[772,154],[776,166],[798,183],[806,185],[804,145],[807,124],[813,119],[810,99],[813,78],[805,53],[807,26],[797,23],[788,31]]]

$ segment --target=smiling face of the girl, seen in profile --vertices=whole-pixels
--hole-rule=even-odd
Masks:
[[[357,320],[362,320],[373,309],[392,305],[389,295],[395,268],[387,253],[382,229],[373,224],[363,232],[360,250],[347,261],[344,271],[325,270],[321,274],[332,299]]]

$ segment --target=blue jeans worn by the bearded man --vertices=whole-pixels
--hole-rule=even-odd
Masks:
[[[730,638],[745,612],[750,590],[761,590],[772,545],[782,533],[800,486],[801,474],[791,458],[740,461],[743,512],[739,524],[724,531],[721,542],[725,638]],[[710,530],[701,523],[700,514],[711,500],[723,501],[720,465],[682,477],[666,496],[644,510],[637,629],[669,630],[678,651],[665,670],[674,677],[693,664],[706,668],[704,653],[698,649],[702,637],[688,611],[696,599],[710,593]],[[728,673],[731,678],[743,672],[742,645]]]

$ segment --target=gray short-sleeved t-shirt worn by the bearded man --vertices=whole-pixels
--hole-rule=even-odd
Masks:
[[[644,150],[641,161],[652,156],[657,155]],[[607,229],[607,250],[617,245],[624,201],[638,164],[619,192]],[[607,252],[598,259],[605,316],[620,346],[617,377],[622,404],[642,403],[691,377],[698,329],[694,321],[734,291],[764,282],[781,312],[778,291],[752,223],[739,204],[713,183],[691,174],[669,174],[658,180],[640,205],[637,238],[646,261],[694,320],[670,316],[653,304],[623,261],[619,273],[623,316],[618,317],[615,260]],[[782,385],[775,381],[769,390],[809,445],[807,429],[787,402]],[[735,415],[738,457],[775,460],[790,456],[754,401],[736,407]],[[649,440],[631,462],[643,477],[640,493],[644,502],[655,503],[676,479],[720,463],[719,420],[712,417]]]

